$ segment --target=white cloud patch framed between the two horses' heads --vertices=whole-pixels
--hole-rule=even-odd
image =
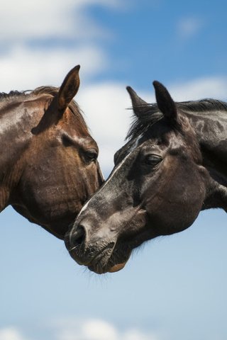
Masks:
[[[79,106],[92,136],[99,145],[99,162],[104,169],[111,169],[114,153],[123,146],[131,122],[131,101],[123,84],[95,84],[79,91]]]

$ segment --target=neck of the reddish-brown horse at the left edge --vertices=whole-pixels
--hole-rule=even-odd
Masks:
[[[33,111],[23,101],[0,105],[0,211],[9,205],[11,191],[21,174],[21,157],[37,123]]]

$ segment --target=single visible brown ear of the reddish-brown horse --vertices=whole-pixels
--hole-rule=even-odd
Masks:
[[[77,65],[67,74],[57,96],[58,109],[64,112],[79,89],[79,68]]]

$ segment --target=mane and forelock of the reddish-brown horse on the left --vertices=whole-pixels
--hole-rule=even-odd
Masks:
[[[10,91],[9,94],[5,92],[0,92],[0,102],[10,101],[10,100],[19,100],[24,98],[30,98],[33,96],[40,96],[40,95],[50,95],[50,96],[57,96],[59,88],[55,86],[39,86],[34,90],[26,90],[26,91]],[[76,101],[71,101],[69,105],[70,111],[72,114],[77,118],[78,123],[84,128],[87,128],[87,124],[85,123],[82,110],[79,108],[79,105]]]

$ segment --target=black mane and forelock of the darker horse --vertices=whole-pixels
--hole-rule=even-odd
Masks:
[[[211,111],[227,111],[227,103],[216,99],[201,99],[199,101],[181,101],[175,103],[183,113],[211,113]],[[157,103],[137,106],[138,115],[133,115],[133,122],[128,130],[126,140],[132,140],[138,135],[143,135],[152,125],[163,118]]]

